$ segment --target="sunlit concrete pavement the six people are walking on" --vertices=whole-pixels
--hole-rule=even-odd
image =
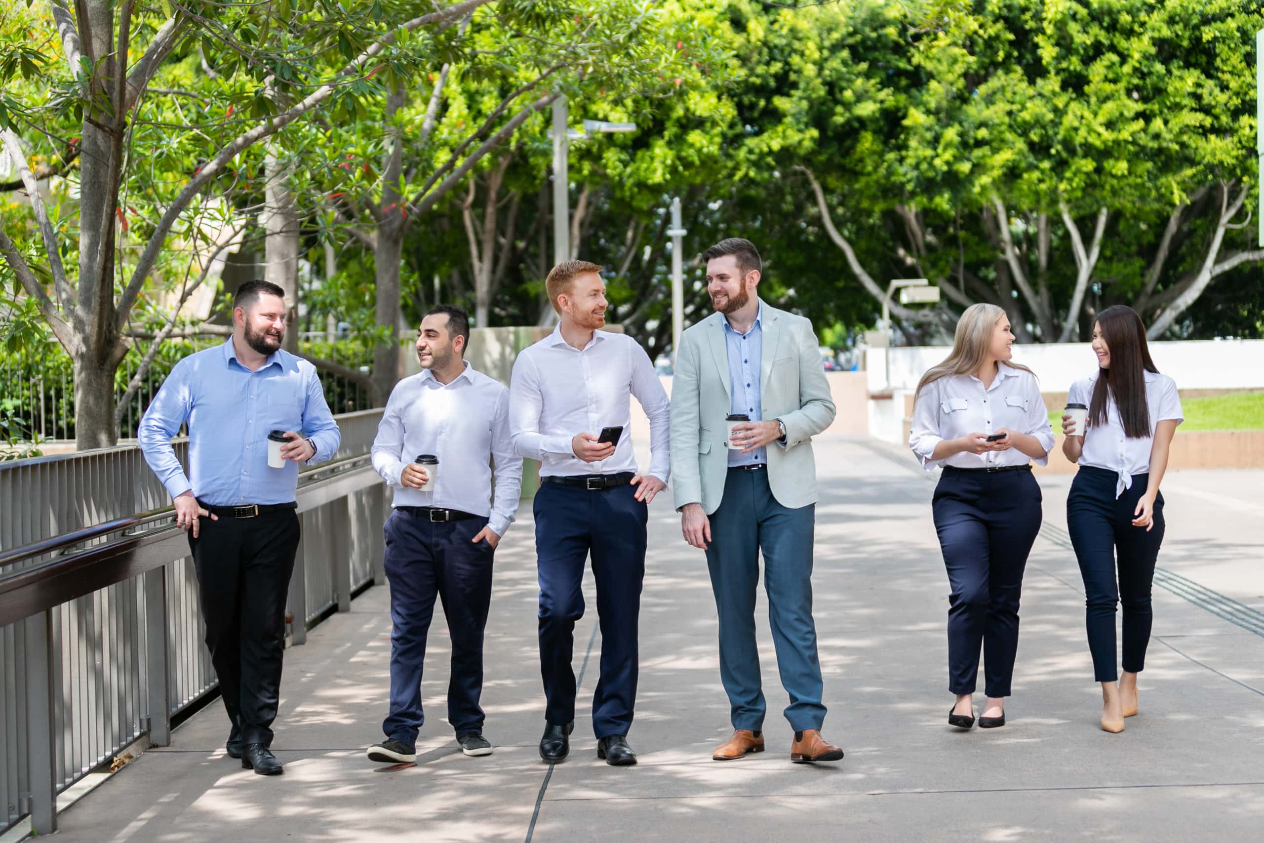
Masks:
[[[948,585],[930,523],[930,478],[872,440],[818,444],[815,618],[837,765],[791,765],[786,704],[762,595],[769,751],[717,763],[729,733],[715,607],[700,551],[670,498],[651,508],[641,685],[629,736],[641,763],[595,760],[586,717],[600,637],[575,632],[584,667],[571,757],[536,753],[544,695],[536,648],[530,504],[497,554],[484,707],[493,756],[460,755],[444,719],[446,627],[436,614],[416,766],[363,748],[386,714],[391,623],[370,589],[286,655],[263,779],[224,755],[219,703],[61,815],[63,840],[1224,840],[1264,829],[1264,507],[1260,471],[1176,473],[1154,593],[1141,713],[1097,728],[1100,693],[1074,556],[1063,546],[1069,478],[1045,476],[1047,530],[1031,554],[1001,729],[947,725]],[[1160,576],[1162,579],[1162,576]],[[1178,594],[1177,591],[1181,591]],[[1236,600],[1236,603],[1235,603]],[[1253,626],[1259,624],[1259,626]],[[589,642],[592,650],[589,651]],[[981,695],[977,698],[981,701]]]

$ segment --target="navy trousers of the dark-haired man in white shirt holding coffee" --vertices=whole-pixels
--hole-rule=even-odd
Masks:
[[[391,713],[388,738],[408,746],[425,723],[421,669],[435,598],[453,641],[447,722],[461,738],[483,731],[483,628],[492,603],[492,557],[487,541],[473,543],[487,518],[432,523],[423,511],[398,507],[387,518],[386,570],[391,583]]]

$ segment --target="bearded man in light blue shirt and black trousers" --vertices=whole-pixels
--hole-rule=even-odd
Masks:
[[[190,531],[206,646],[233,723],[229,756],[267,776],[282,772],[268,747],[298,550],[298,463],[331,459],[341,436],[316,368],[281,349],[284,291],[243,284],[233,322],[228,343],[176,364],[137,439]],[[186,422],[187,475],[171,446]],[[282,468],[268,465],[269,434],[286,440]]]

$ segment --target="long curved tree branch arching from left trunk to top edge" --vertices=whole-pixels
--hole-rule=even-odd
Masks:
[[[123,294],[119,297],[119,305],[116,308],[116,317],[119,325],[125,325],[128,315],[131,312],[131,306],[135,305],[137,296],[140,294],[140,288],[144,286],[145,279],[149,277],[153,269],[154,262],[158,259],[158,253],[162,250],[163,243],[167,239],[167,234],[171,231],[172,225],[185,211],[193,197],[201,192],[201,190],[215,178],[220,171],[222,171],[230,161],[233,161],[243,149],[254,145],[259,140],[268,138],[277,131],[281,131],[287,125],[303,116],[308,111],[317,109],[325,100],[334,95],[339,88],[337,81],[345,76],[359,72],[363,66],[378,56],[382,51],[396,42],[396,34],[398,29],[404,29],[412,32],[420,27],[432,23],[442,23],[453,18],[459,18],[465,14],[471,13],[482,5],[490,3],[490,0],[464,0],[463,3],[454,4],[446,9],[439,11],[432,11],[420,18],[413,18],[412,20],[402,24],[402,27],[396,28],[391,33],[383,35],[379,40],[370,44],[363,53],[356,56],[350,63],[343,67],[335,76],[334,81],[327,82],[310,95],[307,95],[302,101],[284,111],[279,115],[265,118],[253,129],[249,129],[230,143],[228,143],[220,152],[207,162],[201,169],[198,169],[193,178],[190,179],[185,190],[179,192],[176,200],[167,207],[167,211],[158,220],[158,225],[154,227],[153,235],[150,235],[149,241],[145,244],[144,250],[137,259],[135,269],[131,273],[131,279],[124,288]]]

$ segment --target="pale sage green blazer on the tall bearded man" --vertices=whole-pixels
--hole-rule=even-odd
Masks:
[[[786,444],[769,445],[769,485],[791,509],[817,502],[817,461],[811,437],[834,421],[811,322],[763,305],[760,398],[765,421],[780,418]],[[671,380],[671,485],[676,508],[702,503],[719,508],[728,475],[724,417],[732,406],[724,317],[712,313],[680,337]]]

